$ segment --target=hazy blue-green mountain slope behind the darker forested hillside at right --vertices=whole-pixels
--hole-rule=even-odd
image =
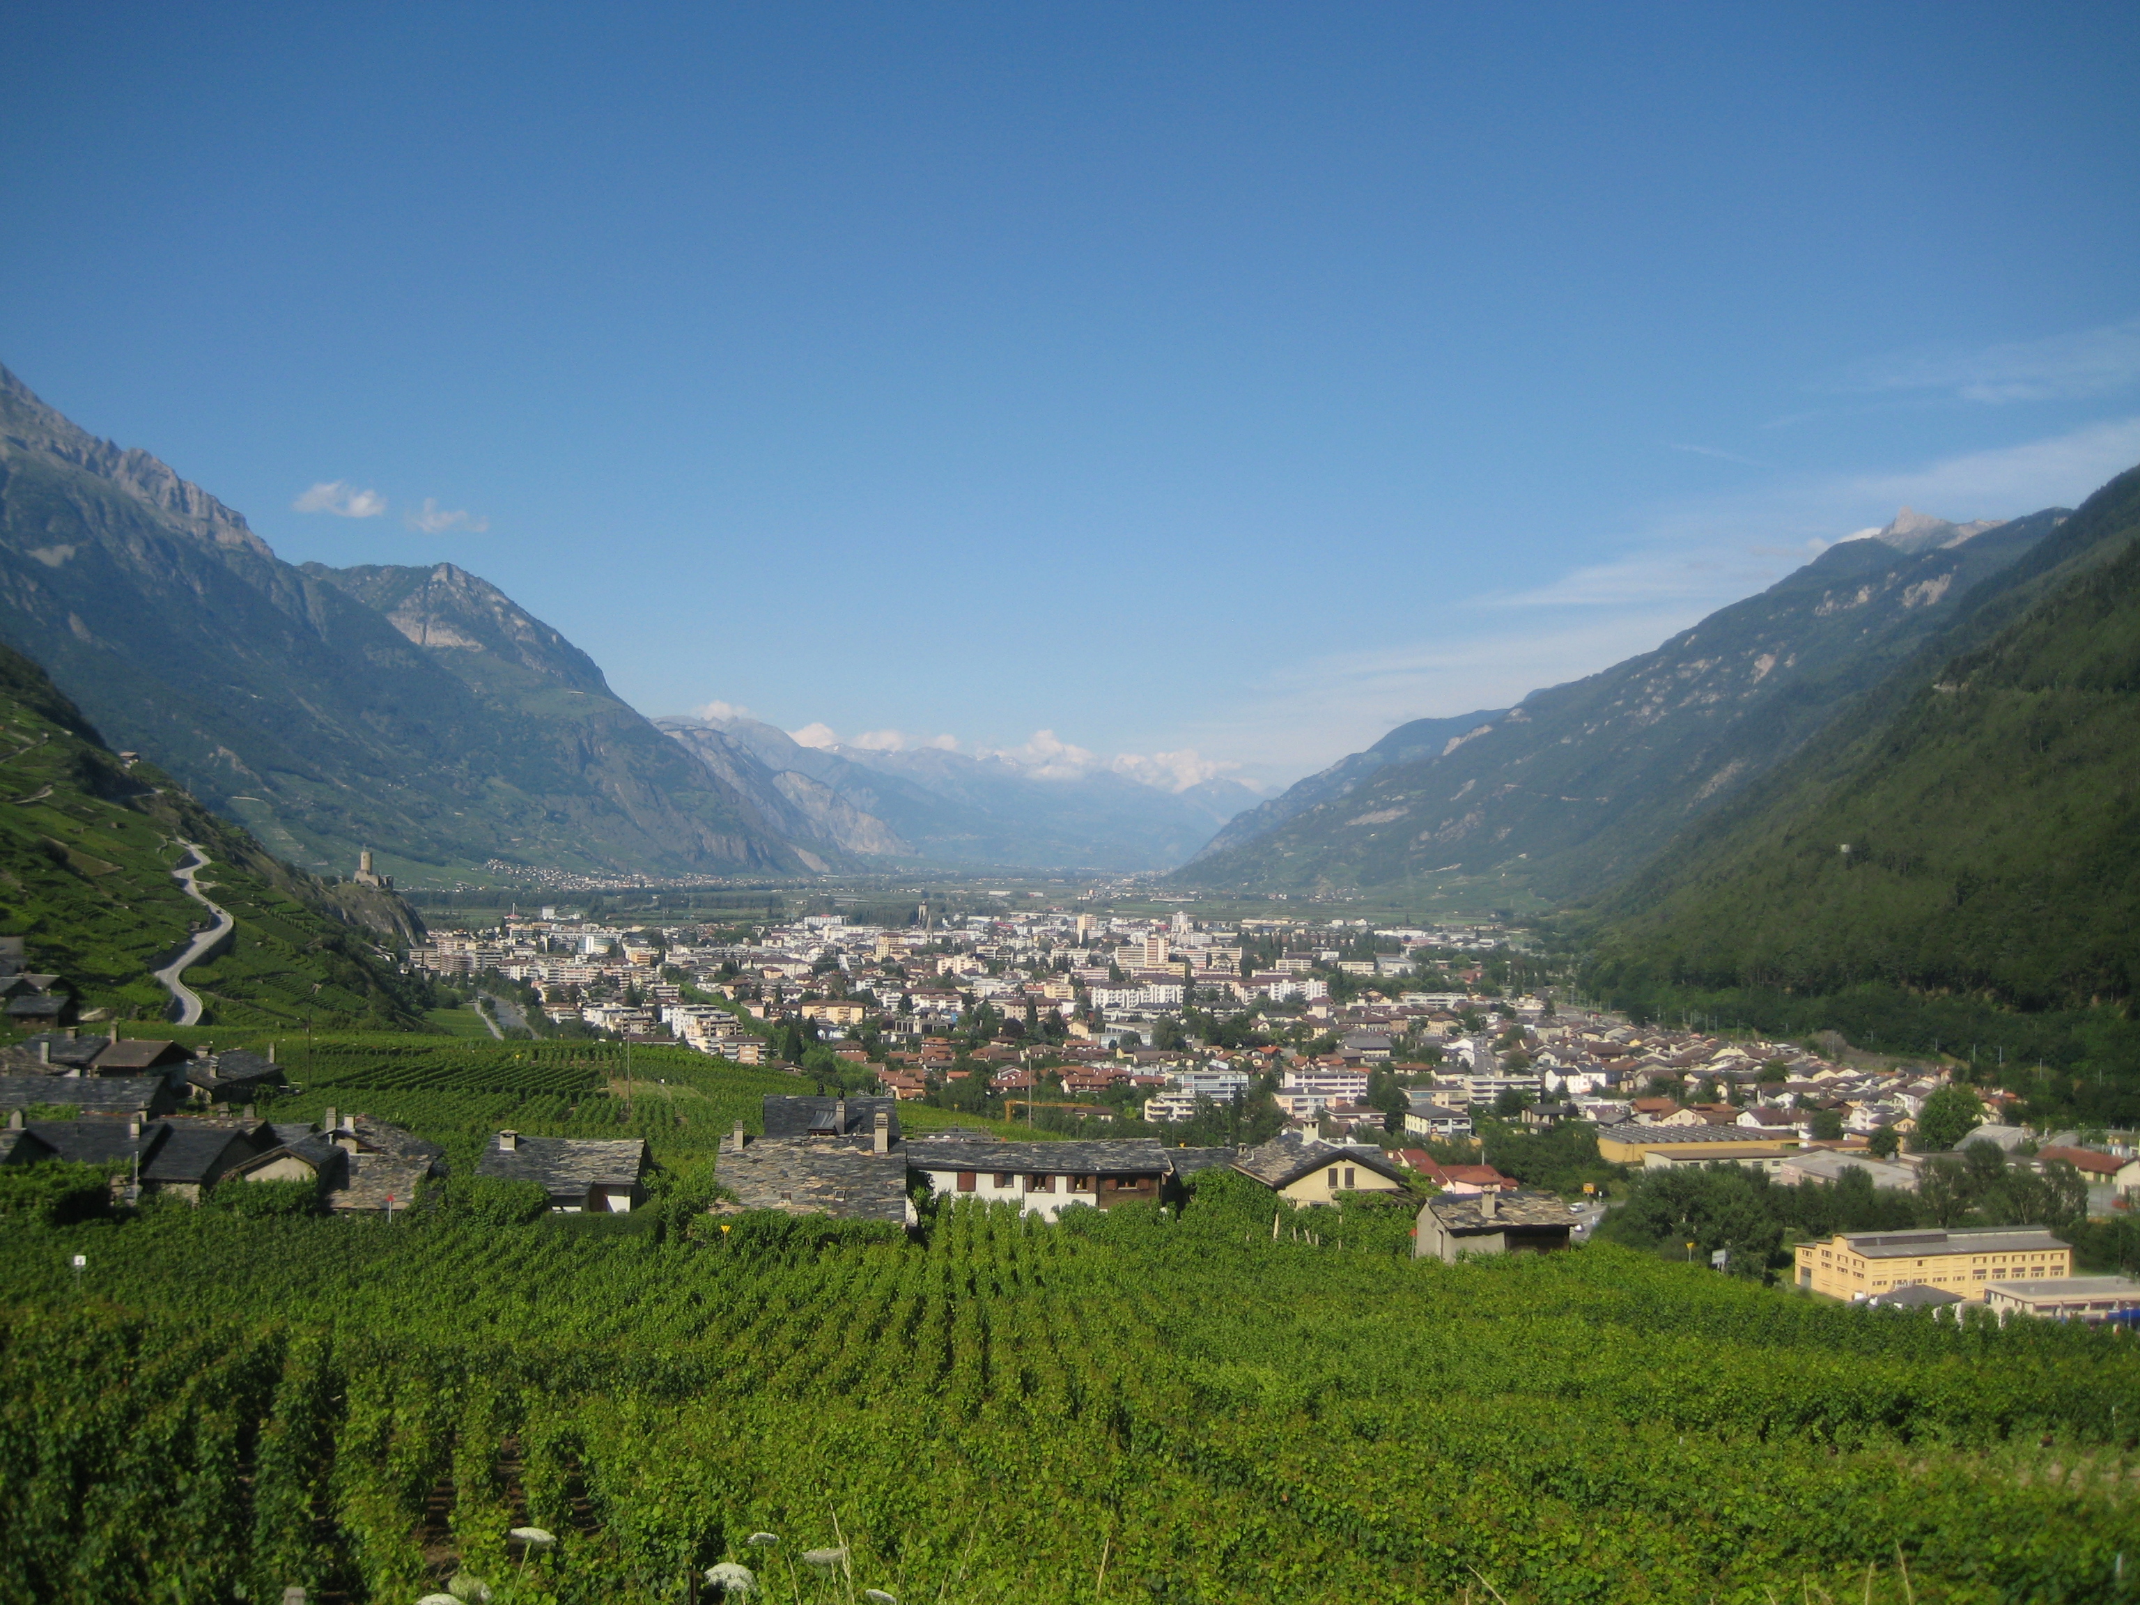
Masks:
[[[1177,877],[1312,890],[1494,871],[1549,899],[1592,895],[1793,753],[2061,518],[1939,524],[1915,552],[1832,546],[1654,653],[1532,691]],[[1928,524],[1905,516],[1883,535],[1915,546]]]

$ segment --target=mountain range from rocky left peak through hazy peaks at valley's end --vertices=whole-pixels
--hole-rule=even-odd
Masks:
[[[0,368],[0,640],[274,854],[383,869],[805,875],[1164,869],[1254,794],[1002,758],[800,747],[625,704],[452,563],[278,559],[244,516]]]

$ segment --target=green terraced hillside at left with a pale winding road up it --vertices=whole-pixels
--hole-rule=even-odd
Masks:
[[[409,924],[400,899],[295,873],[154,766],[122,764],[6,646],[0,740],[0,929],[24,935],[28,967],[58,972],[86,1010],[165,1019],[169,993],[150,972],[208,918],[171,880],[180,843],[195,841],[212,860],[201,888],[238,920],[229,948],[184,978],[208,1023],[419,1023],[422,989],[374,950]]]

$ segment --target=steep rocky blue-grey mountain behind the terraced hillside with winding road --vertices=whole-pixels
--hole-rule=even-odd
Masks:
[[[811,867],[494,586],[452,565],[282,563],[4,370],[0,638],[113,743],[308,869],[364,845],[417,877]]]

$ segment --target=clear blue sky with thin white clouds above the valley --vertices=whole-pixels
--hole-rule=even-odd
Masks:
[[[646,713],[1273,783],[2140,462],[2129,4],[6,36],[0,362]]]

